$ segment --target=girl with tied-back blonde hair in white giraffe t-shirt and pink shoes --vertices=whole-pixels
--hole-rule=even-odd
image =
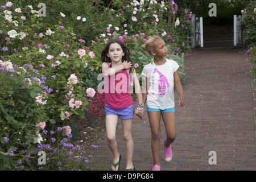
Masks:
[[[150,64],[145,65],[142,75],[146,77],[143,91],[143,103],[147,101],[147,114],[151,127],[151,150],[154,159],[153,171],[160,171],[160,118],[162,115],[166,127],[167,138],[164,140],[164,160],[172,159],[171,143],[176,138],[176,119],[174,86],[179,94],[179,105],[184,106],[183,88],[180,83],[177,69],[179,65],[174,60],[166,59],[168,55],[166,43],[159,36],[148,37],[141,46],[150,55],[154,56]]]

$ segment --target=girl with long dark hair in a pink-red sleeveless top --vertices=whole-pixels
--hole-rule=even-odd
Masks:
[[[121,118],[123,138],[126,144],[126,170],[134,170],[134,143],[131,137],[131,124],[135,114],[140,118],[144,115],[142,90],[136,76],[129,49],[118,39],[112,39],[101,53],[102,73],[104,74],[106,134],[108,145],[114,155],[111,170],[118,171],[121,155],[117,149],[115,130],[118,117]],[[130,81],[133,81],[138,98],[138,107],[134,114],[134,101],[129,93]]]

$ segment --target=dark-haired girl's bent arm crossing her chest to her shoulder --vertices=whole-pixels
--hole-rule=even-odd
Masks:
[[[117,67],[109,68],[109,63],[104,62],[104,63],[102,63],[101,71],[102,71],[102,73],[106,74],[107,76],[111,76],[119,71],[122,71],[123,69],[131,68],[131,65],[132,64],[130,62],[128,63],[127,61],[123,61],[123,63],[118,65]]]

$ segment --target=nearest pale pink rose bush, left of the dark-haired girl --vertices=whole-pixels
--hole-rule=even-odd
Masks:
[[[83,81],[93,52],[76,41],[72,28],[61,22],[47,26],[32,6],[7,2],[0,22],[1,49],[5,47],[0,60],[0,162],[11,169],[8,164],[16,156],[24,158],[36,144],[51,143],[44,131],[71,131],[65,126],[69,117],[85,118],[95,94],[86,95]]]

